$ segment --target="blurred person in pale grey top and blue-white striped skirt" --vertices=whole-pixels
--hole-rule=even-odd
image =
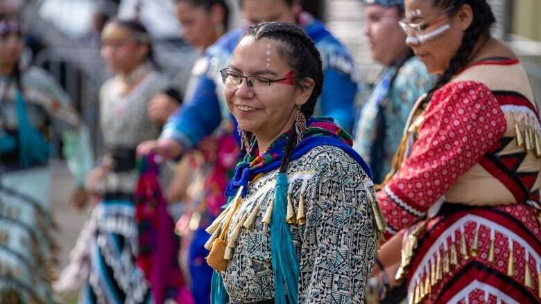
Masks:
[[[87,188],[100,201],[81,300],[147,303],[152,297],[149,282],[135,264],[138,229],[144,229],[135,220],[135,147],[160,134],[159,123],[148,117],[148,102],[168,82],[157,71],[151,37],[138,21],[109,21],[101,34],[101,55],[115,75],[100,92],[106,152],[87,179]]]

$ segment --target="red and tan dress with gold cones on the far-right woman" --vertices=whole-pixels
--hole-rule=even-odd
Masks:
[[[404,233],[408,302],[539,303],[541,125],[518,60],[469,66],[409,120],[377,195],[387,236]]]

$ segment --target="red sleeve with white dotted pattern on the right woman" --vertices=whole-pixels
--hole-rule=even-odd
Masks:
[[[377,198],[388,235],[411,226],[460,175],[499,142],[506,119],[480,82],[452,82],[433,94],[411,155]]]

